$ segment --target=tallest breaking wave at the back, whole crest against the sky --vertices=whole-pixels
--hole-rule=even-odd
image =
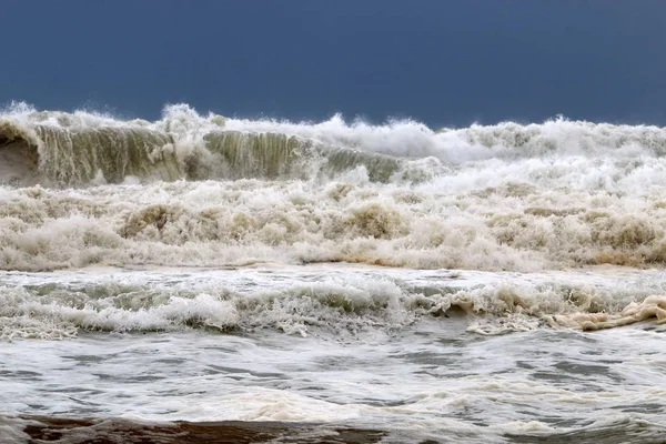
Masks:
[[[364,169],[376,182],[414,182],[451,165],[488,159],[666,153],[666,131],[571,122],[513,122],[432,130],[384,125],[239,120],[170,105],[163,119],[117,120],[18,103],[0,115],[0,183],[79,186],[175,180],[330,179]],[[427,159],[427,161],[424,161]]]

